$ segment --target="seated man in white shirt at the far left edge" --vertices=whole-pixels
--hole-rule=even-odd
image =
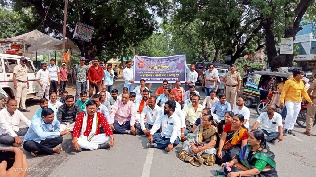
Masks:
[[[23,141],[20,137],[26,134],[31,121],[17,110],[17,104],[15,99],[10,99],[7,107],[0,111],[0,143],[21,147]],[[20,122],[27,128],[19,128]]]

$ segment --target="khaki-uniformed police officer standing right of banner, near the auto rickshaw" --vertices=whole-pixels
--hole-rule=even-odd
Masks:
[[[240,93],[241,77],[240,73],[236,71],[235,65],[230,65],[230,72],[223,76],[224,87],[226,88],[226,101],[232,107],[236,106],[237,93]]]

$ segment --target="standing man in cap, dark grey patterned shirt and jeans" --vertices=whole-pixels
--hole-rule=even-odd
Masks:
[[[79,100],[79,94],[86,91],[89,67],[85,65],[85,62],[86,59],[80,57],[80,65],[77,65],[74,71],[76,77],[76,101]]]

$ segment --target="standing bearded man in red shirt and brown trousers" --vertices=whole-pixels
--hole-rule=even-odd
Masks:
[[[104,71],[102,66],[99,66],[99,60],[93,59],[94,65],[89,68],[88,79],[89,79],[89,97],[92,96],[95,88],[95,93],[100,92],[101,81],[104,77]]]

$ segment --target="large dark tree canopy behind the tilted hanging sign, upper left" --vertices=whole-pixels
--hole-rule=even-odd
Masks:
[[[62,38],[64,0],[1,0],[12,2],[15,11],[25,9],[33,14],[34,20],[25,20],[29,26],[39,26],[42,31]],[[169,8],[167,0],[76,0],[68,1],[66,37],[72,39],[76,22],[95,28],[90,43],[72,39],[87,59],[101,56],[117,57],[130,45],[135,45],[149,37],[157,27],[154,12],[164,18]]]

